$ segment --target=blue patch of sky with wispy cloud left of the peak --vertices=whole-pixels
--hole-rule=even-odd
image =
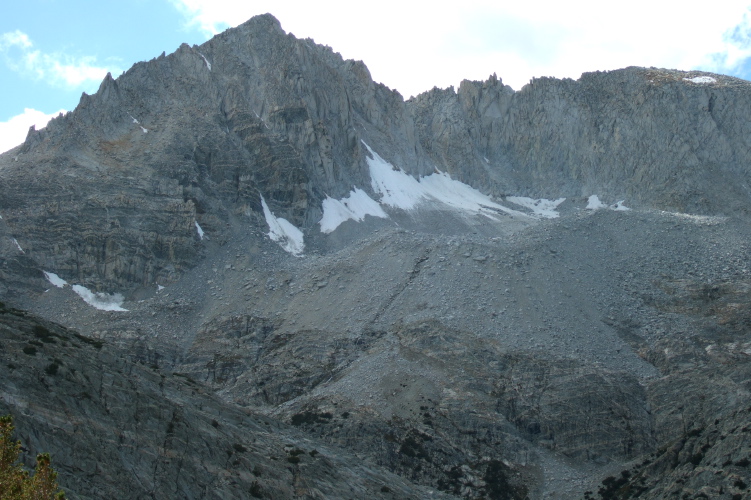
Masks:
[[[81,92],[96,91],[107,70],[117,77],[183,41],[205,40],[166,1],[6,2],[0,16],[0,121],[24,108],[73,109]]]

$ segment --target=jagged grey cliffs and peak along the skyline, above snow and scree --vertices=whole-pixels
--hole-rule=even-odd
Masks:
[[[751,87],[697,75],[629,68],[518,92],[493,76],[405,103],[362,62],[260,16],[108,76],[31,131],[0,160],[0,213],[40,264],[132,289],[196,262],[195,221],[218,241],[235,219],[263,225],[261,196],[315,231],[326,196],[370,190],[361,140],[412,174],[437,168],[496,196],[746,210]]]

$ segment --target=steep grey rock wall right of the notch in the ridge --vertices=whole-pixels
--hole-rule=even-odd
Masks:
[[[494,75],[407,105],[439,168],[496,195],[600,193],[735,213],[749,194],[751,123],[739,110],[751,107],[750,91],[737,78],[633,67],[538,78],[518,92]]]

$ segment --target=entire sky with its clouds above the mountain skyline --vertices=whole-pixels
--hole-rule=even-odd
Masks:
[[[500,5],[499,5],[500,4]],[[357,5],[355,7],[355,5]],[[368,6],[369,9],[368,9]],[[365,61],[407,98],[464,78],[578,78],[629,65],[703,69],[751,79],[751,0],[24,0],[0,16],[0,151],[31,123],[72,110],[111,71],[200,44],[271,12],[298,37]]]

